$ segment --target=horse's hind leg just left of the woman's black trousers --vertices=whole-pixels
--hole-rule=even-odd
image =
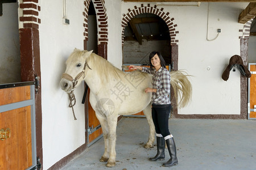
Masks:
[[[153,143],[155,141],[155,125],[152,120],[152,114],[151,114],[151,104],[148,104],[147,107],[143,110],[143,113],[145,114],[147,118],[147,122],[149,125],[149,136],[148,141],[146,145],[144,145],[144,148],[151,148],[153,147]]]

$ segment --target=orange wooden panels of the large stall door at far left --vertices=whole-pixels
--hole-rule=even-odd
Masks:
[[[0,106],[30,99],[30,86],[0,89]],[[32,165],[31,106],[0,113],[0,169],[20,170]]]

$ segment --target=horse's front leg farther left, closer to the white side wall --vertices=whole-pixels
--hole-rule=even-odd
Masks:
[[[104,137],[104,145],[105,151],[104,154],[101,156],[100,162],[108,162],[109,160],[109,127],[108,127],[108,120],[106,117],[102,117],[100,114],[96,113],[96,117],[100,121],[103,137]]]

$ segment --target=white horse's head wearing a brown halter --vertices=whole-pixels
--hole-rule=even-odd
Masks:
[[[79,86],[85,77],[86,70],[90,69],[86,59],[92,54],[92,51],[74,49],[66,61],[66,71],[61,76],[60,87],[62,90],[69,93]]]

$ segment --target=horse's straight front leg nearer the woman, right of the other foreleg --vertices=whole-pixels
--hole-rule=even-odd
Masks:
[[[109,160],[106,164],[107,167],[115,166],[115,141],[117,133],[117,114],[108,117],[109,126]]]

